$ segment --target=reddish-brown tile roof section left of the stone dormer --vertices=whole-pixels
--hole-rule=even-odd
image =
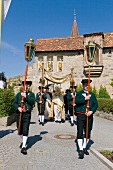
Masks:
[[[72,51],[80,49],[83,49],[83,36],[39,39],[36,42],[35,51]]]

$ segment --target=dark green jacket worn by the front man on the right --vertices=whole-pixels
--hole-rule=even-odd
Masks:
[[[90,95],[91,95],[91,97],[90,97],[90,111],[95,113],[98,108],[98,102],[97,102],[97,99],[96,99],[94,93],[90,92]],[[83,90],[77,93],[76,100],[75,100],[76,112],[86,112],[85,96],[86,96],[86,93],[84,93]]]

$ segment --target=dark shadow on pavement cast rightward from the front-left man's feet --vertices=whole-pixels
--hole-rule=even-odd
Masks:
[[[37,143],[38,141],[42,140],[42,136],[48,133],[47,131],[42,131],[40,132],[40,135],[34,135],[34,136],[30,136],[28,138],[28,145],[27,145],[27,149],[31,148],[35,143]]]

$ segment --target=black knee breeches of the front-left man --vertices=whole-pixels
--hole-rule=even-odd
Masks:
[[[20,120],[20,113],[18,112],[17,113],[17,128],[19,125],[19,120]],[[28,136],[30,120],[31,120],[31,112],[23,112],[21,125],[20,125],[20,135]]]

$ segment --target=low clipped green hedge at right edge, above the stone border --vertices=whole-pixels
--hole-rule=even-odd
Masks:
[[[107,113],[113,113],[113,99],[97,99],[98,100],[98,110],[107,112]]]

